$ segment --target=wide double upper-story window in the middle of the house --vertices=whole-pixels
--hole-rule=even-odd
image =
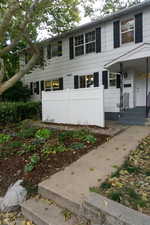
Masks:
[[[75,56],[88,54],[96,51],[96,38],[95,31],[81,34],[75,37],[74,47]]]

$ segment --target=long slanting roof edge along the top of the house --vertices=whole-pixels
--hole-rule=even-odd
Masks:
[[[49,39],[44,40],[42,42],[53,41],[53,40],[57,40],[57,39],[60,39],[60,38],[64,38],[66,36],[73,35],[75,33],[79,33],[81,31],[90,29],[92,27],[99,26],[100,24],[103,24],[105,22],[116,20],[116,19],[118,19],[119,17],[121,17],[123,15],[127,15],[127,14],[130,14],[130,13],[135,13],[135,12],[140,11],[140,10],[142,10],[144,8],[147,8],[149,6],[150,6],[150,0],[145,0],[142,3],[139,3],[137,5],[128,7],[126,9],[119,10],[119,11],[117,11],[115,13],[109,14],[109,15],[104,16],[104,17],[100,17],[100,18],[98,18],[98,19],[96,19],[96,20],[94,20],[92,22],[80,25],[80,26],[75,27],[74,29],[72,29],[70,31],[64,32],[61,35],[58,35],[58,36],[53,37],[53,38],[49,38]]]

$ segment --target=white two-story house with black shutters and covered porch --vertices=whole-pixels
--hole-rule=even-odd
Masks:
[[[143,123],[150,91],[150,1],[44,41],[43,58],[44,66],[24,77],[34,100],[42,90],[90,91],[103,84],[106,119]]]

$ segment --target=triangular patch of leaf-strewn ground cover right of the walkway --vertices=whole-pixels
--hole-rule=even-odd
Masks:
[[[122,167],[91,191],[150,215],[150,136],[130,153]]]

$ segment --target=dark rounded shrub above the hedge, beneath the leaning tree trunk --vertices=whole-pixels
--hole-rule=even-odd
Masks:
[[[2,95],[2,101],[6,102],[27,102],[31,97],[31,91],[28,87],[23,86],[21,81],[18,81],[13,87],[9,88]]]

